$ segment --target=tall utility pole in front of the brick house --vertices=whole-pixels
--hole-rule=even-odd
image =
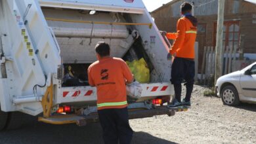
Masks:
[[[217,42],[215,54],[215,85],[223,71],[223,23],[225,0],[218,0]]]

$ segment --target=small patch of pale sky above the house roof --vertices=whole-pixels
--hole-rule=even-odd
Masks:
[[[172,0],[142,0],[143,3],[146,5],[146,9],[149,12],[152,12],[155,9],[158,9],[165,3],[169,3]]]

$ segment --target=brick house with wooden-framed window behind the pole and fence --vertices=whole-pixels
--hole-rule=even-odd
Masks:
[[[198,18],[199,69],[203,47],[216,45],[218,0],[186,0],[194,5]],[[176,31],[184,0],[173,0],[151,12],[162,31]],[[224,7],[223,46],[237,48],[244,57],[256,60],[256,4],[245,0],[226,0]],[[242,42],[242,43],[241,43]]]

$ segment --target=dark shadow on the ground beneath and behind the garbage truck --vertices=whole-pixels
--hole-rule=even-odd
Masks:
[[[29,116],[26,116],[29,117]],[[88,124],[79,127],[75,124],[51,125],[35,122],[35,118],[30,118],[24,126],[18,130],[8,130],[0,132],[0,143],[20,144],[52,144],[52,143],[103,143],[102,130],[100,124]],[[32,120],[33,119],[33,120]],[[171,143],[165,139],[154,137],[145,132],[135,132],[132,143]]]

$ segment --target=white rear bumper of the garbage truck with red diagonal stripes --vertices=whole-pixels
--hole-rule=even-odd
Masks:
[[[174,94],[171,82],[156,82],[146,84],[131,84],[126,86],[127,94],[137,101],[153,99],[156,96],[171,96]],[[96,88],[91,86],[62,87],[58,92],[56,104],[60,103],[96,103]]]

